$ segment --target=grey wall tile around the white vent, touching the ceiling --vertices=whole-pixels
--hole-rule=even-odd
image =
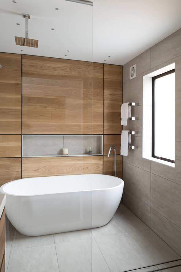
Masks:
[[[151,50],[149,48],[123,66],[123,82],[125,80],[130,80],[130,67],[134,64],[136,64],[136,76],[150,69],[150,52]]]

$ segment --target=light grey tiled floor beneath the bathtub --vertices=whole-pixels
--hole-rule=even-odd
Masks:
[[[7,272],[148,272],[181,265],[162,239],[123,204],[105,226],[43,236],[21,235],[6,222]],[[160,264],[165,263],[166,264]],[[160,265],[159,265],[160,264]],[[181,266],[162,270],[180,272]]]

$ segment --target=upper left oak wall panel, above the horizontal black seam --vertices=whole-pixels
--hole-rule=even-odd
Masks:
[[[0,134],[21,134],[21,55],[0,53]]]

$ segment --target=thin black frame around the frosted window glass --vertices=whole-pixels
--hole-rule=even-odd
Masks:
[[[157,78],[167,76],[169,74],[175,73],[175,69],[172,69],[168,72],[164,72],[160,75],[152,77],[152,157],[156,159],[160,159],[163,161],[169,161],[175,163],[175,161],[163,157],[158,157],[155,155],[155,80]]]

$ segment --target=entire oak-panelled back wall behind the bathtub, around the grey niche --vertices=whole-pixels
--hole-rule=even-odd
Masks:
[[[21,178],[21,171],[22,178],[114,175],[114,150],[107,158],[111,145],[122,177],[121,66],[104,64],[103,69],[100,63],[23,55],[21,121],[21,55],[0,57],[0,185]],[[104,156],[22,158],[21,169],[21,125],[23,134],[104,134]]]

